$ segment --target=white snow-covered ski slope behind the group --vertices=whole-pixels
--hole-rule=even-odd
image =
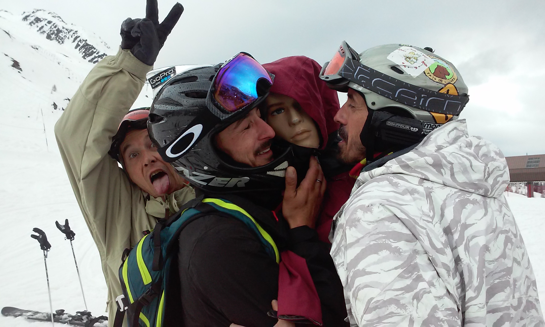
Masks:
[[[70,241],[54,222],[70,221],[88,310],[106,314],[106,283],[100,257],[76,203],[60,159],[53,126],[92,64],[77,56],[69,45],[46,40],[13,15],[0,11],[0,307],[50,310],[43,252],[29,235],[43,229],[51,243],[47,257],[53,310],[84,310]],[[4,55],[5,53],[5,55]],[[69,54],[69,56],[67,56]],[[22,71],[13,67],[17,60]],[[56,91],[53,91],[53,85]],[[146,98],[146,95],[148,97]],[[147,85],[133,108],[149,106]],[[63,102],[64,101],[64,102]],[[507,195],[507,193],[506,193]],[[545,198],[508,193],[529,252],[538,289],[545,289]],[[542,292],[545,299],[545,290]],[[542,305],[545,308],[545,305]],[[24,318],[0,316],[0,326],[28,326]],[[39,324],[39,323],[38,323]]]

